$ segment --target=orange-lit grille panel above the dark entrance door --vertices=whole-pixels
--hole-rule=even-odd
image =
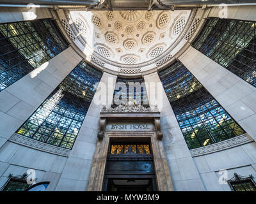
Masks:
[[[151,154],[150,147],[148,143],[140,143],[140,144],[111,144],[109,154]]]

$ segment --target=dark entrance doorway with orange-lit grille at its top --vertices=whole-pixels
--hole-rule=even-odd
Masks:
[[[112,142],[102,191],[157,191],[149,142]]]

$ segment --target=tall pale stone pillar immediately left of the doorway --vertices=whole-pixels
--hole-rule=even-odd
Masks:
[[[56,191],[86,191],[97,143],[102,105],[111,106],[116,75],[104,72],[77,135]],[[100,103],[99,103],[100,102]]]

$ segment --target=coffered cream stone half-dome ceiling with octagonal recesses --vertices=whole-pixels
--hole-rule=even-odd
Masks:
[[[196,11],[66,10],[59,17],[88,61],[101,68],[124,73],[128,70],[132,74],[170,60],[177,42],[184,39],[193,24]],[[168,59],[163,59],[166,56]]]

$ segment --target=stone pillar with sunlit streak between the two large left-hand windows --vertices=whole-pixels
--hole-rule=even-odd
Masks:
[[[0,148],[81,60],[68,47],[0,92]]]

